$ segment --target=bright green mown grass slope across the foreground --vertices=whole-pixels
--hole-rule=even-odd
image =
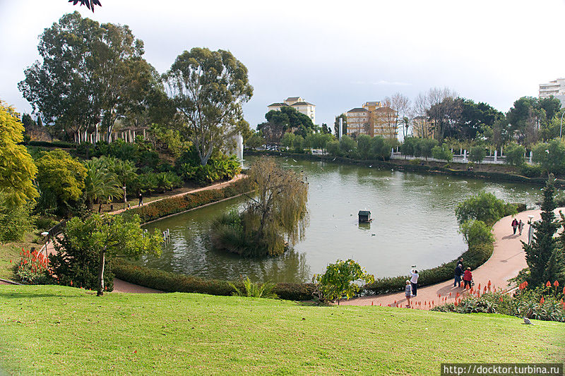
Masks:
[[[565,325],[535,324],[501,315],[0,286],[0,368],[25,375],[437,375],[442,362],[562,362]]]

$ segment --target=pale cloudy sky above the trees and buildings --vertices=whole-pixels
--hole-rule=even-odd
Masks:
[[[232,51],[254,86],[251,126],[290,96],[316,104],[321,124],[365,101],[444,86],[508,111],[565,76],[565,0],[101,3],[93,14],[66,0],[0,0],[0,99],[30,111],[17,83],[39,58],[43,29],[75,10],[129,25],[160,73],[191,47]]]

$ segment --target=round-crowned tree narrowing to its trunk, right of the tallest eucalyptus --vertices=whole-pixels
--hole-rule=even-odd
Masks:
[[[238,132],[242,104],[253,95],[247,68],[230,51],[194,47],[177,56],[164,78],[206,166],[212,152]]]

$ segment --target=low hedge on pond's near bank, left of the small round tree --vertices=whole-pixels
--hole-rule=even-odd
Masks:
[[[159,269],[133,265],[123,259],[112,260],[112,272],[117,278],[124,281],[167,293],[207,293],[209,295],[230,296],[234,292],[230,284],[221,279],[207,279],[163,272]],[[243,289],[242,282],[234,282],[234,284],[239,289]],[[273,292],[281,299],[308,301],[312,298],[315,287],[314,284],[279,283],[275,285]]]

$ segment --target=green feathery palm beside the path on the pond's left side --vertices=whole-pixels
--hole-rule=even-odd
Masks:
[[[99,203],[98,212],[102,210],[104,200],[114,200],[123,196],[117,175],[107,169],[102,159],[93,158],[84,162],[86,178],[84,195],[86,205],[93,210],[94,204]]]

